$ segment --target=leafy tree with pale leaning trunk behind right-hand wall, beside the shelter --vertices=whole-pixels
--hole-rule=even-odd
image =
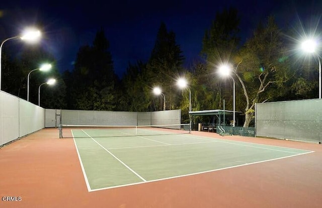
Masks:
[[[244,127],[248,127],[254,119],[255,104],[280,96],[281,91],[276,89],[282,88],[289,79],[287,50],[272,16],[265,26],[258,26],[254,36],[240,50],[235,64],[234,75],[246,99]]]

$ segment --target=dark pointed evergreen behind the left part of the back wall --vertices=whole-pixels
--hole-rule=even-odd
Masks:
[[[83,46],[76,57],[74,70],[66,73],[69,86],[68,106],[82,110],[113,110],[116,106],[114,73],[109,42],[101,29],[93,46]]]

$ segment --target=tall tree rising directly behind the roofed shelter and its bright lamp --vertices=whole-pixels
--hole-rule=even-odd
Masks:
[[[222,100],[232,100],[229,83],[215,76],[216,68],[223,63],[231,63],[237,53],[239,38],[238,11],[234,8],[216,13],[210,29],[206,30],[202,42],[201,56],[206,60],[206,70],[195,70],[197,89],[201,109],[221,109]],[[199,68],[200,69],[204,69]],[[197,68],[198,69],[198,68]],[[229,105],[232,102],[227,102]],[[231,106],[226,106],[231,107]]]

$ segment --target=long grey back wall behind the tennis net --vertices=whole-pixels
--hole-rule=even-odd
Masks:
[[[181,124],[181,110],[156,112],[61,110],[61,123],[98,126]]]

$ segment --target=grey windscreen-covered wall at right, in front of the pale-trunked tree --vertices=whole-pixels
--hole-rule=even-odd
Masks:
[[[256,104],[256,136],[322,141],[322,99]]]

